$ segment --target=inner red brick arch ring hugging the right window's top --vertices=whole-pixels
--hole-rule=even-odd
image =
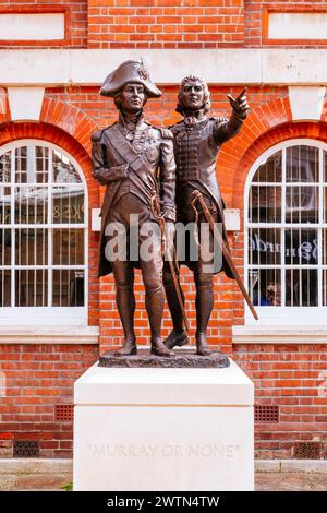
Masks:
[[[237,167],[232,193],[234,208],[243,210],[245,181],[255,160],[269,147],[291,139],[313,139],[327,143],[327,124],[313,121],[288,122],[262,134],[249,146]]]

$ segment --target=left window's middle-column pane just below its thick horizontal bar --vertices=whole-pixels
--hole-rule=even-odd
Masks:
[[[48,264],[48,229],[15,229],[15,264]]]

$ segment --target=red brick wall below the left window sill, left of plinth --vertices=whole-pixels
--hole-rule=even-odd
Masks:
[[[55,406],[73,404],[74,382],[97,357],[94,345],[0,345],[0,457],[13,440],[39,441],[40,457],[72,456],[73,423],[56,421]]]

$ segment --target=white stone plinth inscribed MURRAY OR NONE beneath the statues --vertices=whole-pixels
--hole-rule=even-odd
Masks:
[[[253,383],[233,361],[94,365],[74,392],[74,490],[253,490]]]

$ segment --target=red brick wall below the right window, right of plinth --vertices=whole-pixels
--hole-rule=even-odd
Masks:
[[[255,425],[256,456],[289,458],[294,442],[315,439],[327,457],[327,346],[235,345],[233,358],[254,382],[255,404],[279,407],[279,422]]]

